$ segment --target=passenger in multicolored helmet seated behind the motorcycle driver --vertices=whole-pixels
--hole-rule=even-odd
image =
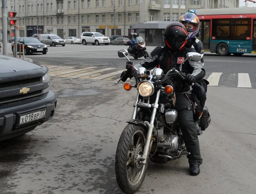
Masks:
[[[195,49],[196,52],[202,55],[201,63],[204,66],[204,45],[198,40],[198,38],[196,38],[199,34],[200,20],[197,17],[195,10],[190,10],[188,13],[183,14],[180,17],[180,23],[183,23],[188,32],[188,41],[186,43],[186,47],[189,49]],[[209,84],[209,82],[202,79],[195,83],[195,85],[192,87],[192,92],[198,97],[201,104],[200,116],[203,113],[204,104],[206,101],[207,84]],[[197,133],[198,135],[202,135],[203,131],[198,125],[199,120],[200,117],[195,121],[198,127]]]

